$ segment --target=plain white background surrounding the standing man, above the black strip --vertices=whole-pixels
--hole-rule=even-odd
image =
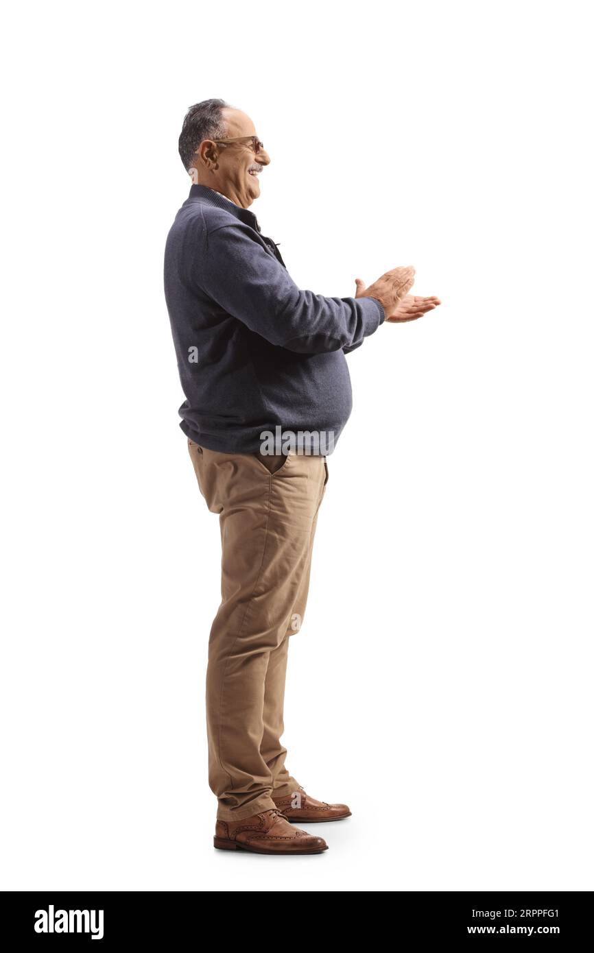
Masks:
[[[586,10],[12,6],[4,889],[594,887]],[[162,288],[212,96],[270,153],[253,211],[301,287],[414,264],[443,302],[348,357],[284,741],[353,817],[310,858],[212,842],[218,524]]]

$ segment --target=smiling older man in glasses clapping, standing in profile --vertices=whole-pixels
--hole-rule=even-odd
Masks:
[[[320,853],[326,842],[290,821],[351,812],[303,790],[280,737],[326,455],[351,412],[344,355],[384,321],[413,320],[440,301],[408,294],[412,267],[367,289],[356,279],[355,297],[298,289],[248,211],[269,155],[249,116],[223,100],[187,112],[179,154],[194,185],[167,239],[165,295],[187,398],[180,426],[222,542],[206,679],[215,847]]]

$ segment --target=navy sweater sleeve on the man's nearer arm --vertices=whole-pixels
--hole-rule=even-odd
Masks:
[[[238,222],[208,233],[195,281],[228,314],[271,344],[303,354],[354,349],[385,314],[377,298],[324,297],[301,291]]]

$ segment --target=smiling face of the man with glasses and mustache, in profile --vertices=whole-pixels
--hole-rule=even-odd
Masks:
[[[225,139],[236,136],[256,135],[256,127],[245,112],[223,109],[226,123]],[[270,162],[267,152],[254,152],[254,143],[246,138],[245,142],[215,143],[215,163],[207,172],[200,172],[200,182],[231,198],[236,205],[247,209],[260,193],[258,174]],[[209,152],[206,155],[210,156]],[[214,165],[218,165],[215,169]],[[211,171],[212,170],[212,171]]]

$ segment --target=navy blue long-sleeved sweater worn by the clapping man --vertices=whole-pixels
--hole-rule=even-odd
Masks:
[[[165,297],[186,436],[223,453],[256,453],[277,427],[336,445],[352,407],[344,355],[384,320],[377,298],[301,291],[256,215],[202,185],[167,238]]]

